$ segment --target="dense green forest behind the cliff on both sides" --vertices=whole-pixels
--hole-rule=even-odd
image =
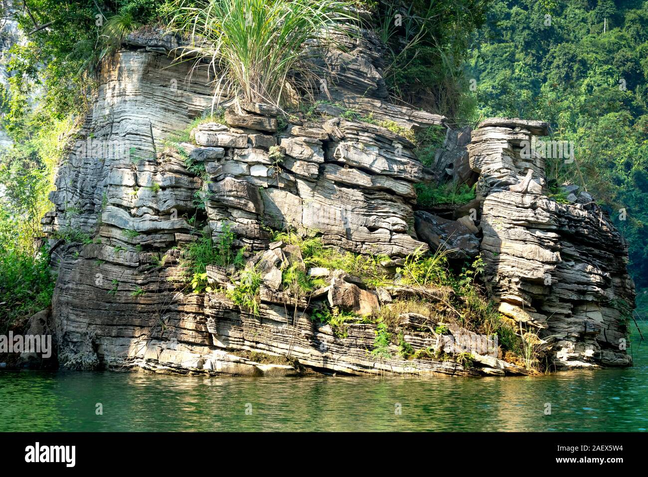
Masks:
[[[180,2],[187,3],[187,2]],[[189,2],[191,3],[191,2]],[[612,0],[354,1],[375,12],[393,100],[457,124],[489,116],[543,119],[573,141],[575,161],[551,167],[608,209],[630,244],[630,270],[648,307],[648,2]],[[3,8],[0,157],[0,314],[47,306],[47,255],[36,253],[54,167],[83,121],[98,65],[129,32],[169,25],[179,2],[26,0]],[[391,27],[394,12],[403,24]],[[15,38],[11,38],[14,36]],[[37,242],[40,244],[40,242]]]

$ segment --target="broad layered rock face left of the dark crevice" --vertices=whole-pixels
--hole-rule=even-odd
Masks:
[[[167,57],[175,44],[130,38],[104,65],[97,102],[57,170],[43,226],[55,244],[52,326],[63,364],[295,373],[231,354],[247,350],[349,373],[474,373],[433,360],[376,365],[366,351],[375,325],[353,325],[342,340],[299,304],[295,320],[272,257],[263,259],[259,316],[223,294],[191,293],[178,247],[200,233],[194,221],[214,240],[235,233],[248,253],[281,251],[269,227],[317,230],[325,244],[396,259],[425,249],[413,227],[422,166],[410,141],[371,124],[295,121],[275,135],[276,111],[260,104],[230,105],[235,126],[200,124],[169,147],[165,138],[213,100],[209,78]],[[228,273],[209,268],[209,283],[231,286]],[[378,306],[375,294],[356,291],[350,309]]]

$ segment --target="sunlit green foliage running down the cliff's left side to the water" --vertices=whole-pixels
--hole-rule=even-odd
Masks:
[[[0,326],[6,316],[21,320],[49,305],[53,281],[47,257],[34,255],[32,244],[43,236],[40,219],[51,209],[47,194],[54,166],[93,98],[97,65],[106,52],[108,36],[101,35],[110,29],[102,32],[95,24],[97,5],[113,27],[115,14],[122,20],[130,15],[132,25],[136,18],[152,20],[161,8],[157,0],[115,0],[110,6],[93,0],[14,2],[13,19],[29,34],[6,52],[9,75],[0,87],[0,127],[14,141],[0,152],[0,303],[6,302],[0,305]],[[67,207],[66,217],[79,212]],[[92,242],[69,223],[54,238]]]

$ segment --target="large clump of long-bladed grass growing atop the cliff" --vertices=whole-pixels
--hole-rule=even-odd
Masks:
[[[353,0],[178,0],[170,26],[189,40],[180,59],[209,60],[217,78],[214,96],[226,91],[281,106],[290,89],[315,79],[304,64],[304,45],[351,21],[351,5]]]

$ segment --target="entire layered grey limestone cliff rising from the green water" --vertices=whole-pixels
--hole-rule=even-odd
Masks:
[[[425,292],[373,290],[327,270],[321,272],[327,286],[308,298],[292,296],[281,286],[281,270],[301,263],[301,255],[270,234],[287,228],[317,231],[323,244],[340,250],[385,255],[392,269],[429,245],[452,242],[463,256],[481,248],[500,311],[553,336],[559,364],[628,363],[617,346],[624,329],[613,305],[615,299],[632,303],[623,240],[596,205],[543,196],[541,159],[523,162],[516,152],[522,138],[542,134],[546,124],[481,124],[468,145],[472,171],[465,164],[467,141],[455,140],[454,169],[448,156],[443,169],[467,178],[480,174],[476,215],[466,219],[472,215],[466,209],[450,219],[415,217],[413,185],[434,172],[419,162],[415,145],[339,114],[353,106],[406,128],[445,124],[445,118],[388,104],[375,38],[364,32],[348,41],[354,42],[350,58],[325,58],[334,72],[329,94],[337,98],[318,105],[327,115],[295,115],[278,133],[281,115],[272,106],[229,103],[224,121],[198,125],[180,150],[165,139],[210,110],[207,73],[189,74],[189,64],[173,62],[175,40],[156,34],[132,35],[102,65],[97,100],[58,168],[54,210],[43,219],[58,270],[52,326],[64,366],[234,375],[528,372],[497,351],[472,353],[474,366],[396,353],[376,357],[369,353],[375,324],[349,325],[339,336],[311,320],[318,300],[364,311]],[[527,170],[539,189],[526,183],[509,191]],[[196,222],[207,224],[216,241],[231,231],[246,246],[263,274],[258,313],[215,291],[231,286],[226,268],[208,269],[214,291],[187,289],[181,248],[195,240]],[[413,349],[459,353],[446,337],[469,334],[456,326],[439,334],[436,323],[416,314],[401,318],[399,331]]]

